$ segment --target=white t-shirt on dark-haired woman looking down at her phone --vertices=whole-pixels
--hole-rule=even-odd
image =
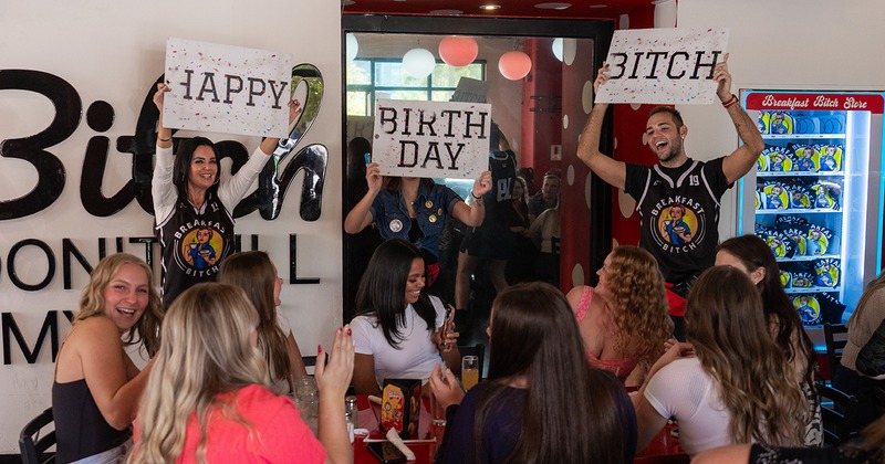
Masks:
[[[430,303],[436,312],[436,330],[442,326],[446,309],[436,296],[430,296]],[[434,366],[442,362],[427,325],[412,305],[406,307],[405,319],[405,327],[399,330],[403,335],[399,349],[387,342],[374,316],[357,316],[351,321],[354,351],[375,358],[378,386],[384,383],[384,379],[428,379]]]

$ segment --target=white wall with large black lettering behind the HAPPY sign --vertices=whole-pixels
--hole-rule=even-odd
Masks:
[[[39,70],[62,77],[80,94],[84,112],[97,99],[113,106],[116,118],[104,134],[112,140],[106,194],[117,191],[131,177],[131,156],[115,151],[115,139],[134,133],[146,89],[163,73],[168,36],[291,53],[294,63],[312,63],[320,68],[326,92],[304,143],[323,144],[330,151],[322,215],[315,222],[300,218],[299,176],[277,220],[266,221],[252,213],[237,221],[237,233],[260,235],[261,249],[271,254],[283,278],[289,277],[289,234],[296,233],[299,276],[321,278],[319,285],[283,287],[283,312],[305,355],[315,354],[317,344],[329,344],[334,327],[341,324],[340,8],[336,1],[287,0],[0,3],[0,70]],[[38,94],[0,92],[0,140],[37,134],[53,115],[52,106]],[[108,218],[95,218],[84,210],[79,193],[81,169],[86,144],[95,135],[84,118],[71,137],[48,149],[62,160],[67,179],[54,204],[23,219],[0,221],[0,313],[13,315],[30,344],[37,339],[48,310],[76,309],[79,289],[88,278],[74,265],[73,289],[63,289],[63,238],[70,238],[95,264],[98,236],[108,238],[113,249],[115,236],[153,235],[152,217],[134,202]],[[250,149],[259,143],[257,137],[209,137],[237,139]],[[35,181],[37,173],[29,164],[0,158],[0,201],[29,192]],[[17,288],[7,272],[10,247],[25,239],[43,241],[55,253],[55,278],[40,292]],[[125,251],[144,255],[140,245],[127,244]],[[37,252],[20,254],[17,275],[39,282],[46,272],[43,256]],[[70,325],[63,321],[61,328],[63,337]],[[0,366],[0,454],[18,453],[21,426],[50,405],[53,363],[49,344],[42,347],[35,365],[23,359],[14,340],[12,347],[12,363]]]

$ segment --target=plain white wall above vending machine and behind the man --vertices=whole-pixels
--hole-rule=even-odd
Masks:
[[[727,27],[732,91],[784,88],[885,91],[885,2],[881,0],[679,0],[678,25]],[[719,105],[679,107],[690,156],[711,159],[737,147]],[[723,198],[720,232],[736,234],[735,190]]]

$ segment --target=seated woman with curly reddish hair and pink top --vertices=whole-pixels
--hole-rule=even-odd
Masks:
[[[664,277],[652,254],[636,246],[615,247],[596,275],[596,288],[580,285],[566,296],[584,352],[622,382],[642,384],[673,334]]]

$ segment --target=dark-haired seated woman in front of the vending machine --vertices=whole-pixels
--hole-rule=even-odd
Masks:
[[[762,296],[762,312],[769,323],[769,334],[790,360],[793,380],[805,394],[809,422],[805,424],[805,446],[823,443],[821,403],[814,391],[814,346],[799,313],[783,291],[781,273],[774,254],[756,235],[742,235],[722,242],[716,252],[716,265],[732,266],[750,277]]]

